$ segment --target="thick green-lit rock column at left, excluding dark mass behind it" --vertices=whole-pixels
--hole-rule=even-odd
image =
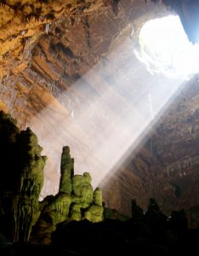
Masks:
[[[38,198],[43,188],[46,157],[41,156],[43,148],[30,128],[20,132],[17,148],[20,177],[13,202],[13,240],[28,241],[40,213]]]

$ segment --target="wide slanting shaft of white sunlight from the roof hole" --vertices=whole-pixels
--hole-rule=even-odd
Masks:
[[[177,18],[172,16],[169,19]],[[57,169],[60,169],[64,145],[70,146],[71,155],[75,158],[75,173],[90,172],[94,187],[108,181],[108,177],[126,160],[125,156],[138,146],[144,132],[151,129],[151,123],[162,109],[166,109],[165,106],[187,78],[185,74],[192,70],[190,66],[187,66],[189,71],[185,65],[179,66],[183,48],[176,49],[177,46],[168,40],[167,32],[164,40],[168,44],[160,45],[151,38],[152,24],[152,37],[156,37],[164,21],[159,20],[158,25],[156,20],[149,22],[140,32],[140,52],[137,54],[142,61],[145,58],[148,68],[153,65],[158,73],[147,71],[134,54],[132,39],[127,38],[65,91],[59,101],[54,100],[31,120],[30,125],[48,155],[43,196],[54,194],[58,189]],[[173,57],[168,56],[171,49],[178,50]]]

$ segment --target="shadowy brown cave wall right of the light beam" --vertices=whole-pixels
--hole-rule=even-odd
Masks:
[[[168,214],[185,208],[190,224],[198,225],[198,93],[197,81],[190,81],[181,88],[147,143],[129,159],[127,166],[120,168],[116,180],[112,180],[113,184],[117,183],[116,198],[121,196],[122,188],[128,188],[121,199],[126,201],[128,211],[130,196],[144,209],[148,198],[153,197]],[[110,189],[105,192],[105,198],[110,201],[111,193]],[[116,206],[117,201],[113,207]],[[192,207],[196,211],[195,218]]]

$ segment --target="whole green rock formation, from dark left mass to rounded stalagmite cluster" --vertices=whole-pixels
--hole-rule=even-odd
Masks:
[[[49,241],[56,224],[88,218],[103,220],[102,191],[93,191],[88,172],[74,175],[70,148],[61,156],[60,191],[39,202],[46,157],[36,135],[20,131],[9,114],[0,112],[0,232],[10,241]],[[33,235],[32,227],[36,224]],[[41,235],[42,234],[42,235]]]

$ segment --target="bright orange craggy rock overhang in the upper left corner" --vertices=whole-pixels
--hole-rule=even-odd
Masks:
[[[0,5],[0,79],[28,67],[31,50],[50,26],[61,18],[74,22],[103,6],[102,0],[89,1],[10,1]]]

